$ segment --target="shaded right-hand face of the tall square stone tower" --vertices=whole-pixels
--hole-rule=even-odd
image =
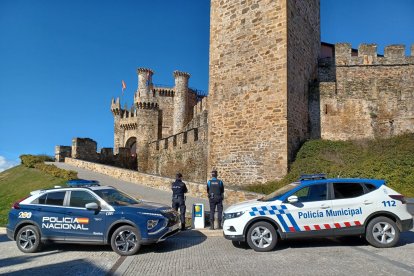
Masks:
[[[308,97],[321,48],[319,0],[288,1],[288,162],[309,138]]]

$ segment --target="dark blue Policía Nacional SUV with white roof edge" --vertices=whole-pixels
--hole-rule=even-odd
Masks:
[[[142,244],[180,231],[175,210],[136,200],[110,186],[54,188],[31,192],[9,212],[7,236],[25,253],[44,242],[110,244],[133,255]]]

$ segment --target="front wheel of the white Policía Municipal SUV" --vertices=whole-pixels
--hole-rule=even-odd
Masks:
[[[246,240],[254,251],[271,251],[277,243],[276,229],[268,222],[256,222],[247,231]]]

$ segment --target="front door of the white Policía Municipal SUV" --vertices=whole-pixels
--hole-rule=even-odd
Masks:
[[[297,202],[285,201],[294,222],[291,232],[298,232],[296,236],[333,233],[332,219],[326,216],[326,210],[332,207],[326,183],[306,185],[292,195],[297,196]]]

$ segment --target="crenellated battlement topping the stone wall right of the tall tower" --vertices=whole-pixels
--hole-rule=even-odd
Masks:
[[[381,65],[411,65],[414,64],[414,44],[411,45],[411,55],[405,55],[405,46],[389,45],[384,49],[384,56],[377,52],[377,44],[360,44],[358,56],[352,55],[350,43],[335,44],[336,66],[381,66]]]

